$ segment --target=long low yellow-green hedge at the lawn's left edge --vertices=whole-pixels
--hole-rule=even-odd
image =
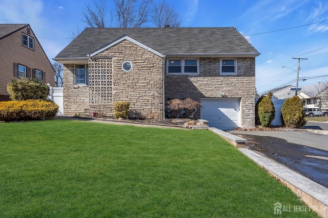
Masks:
[[[50,100],[0,102],[1,121],[38,120],[56,115],[58,105]]]

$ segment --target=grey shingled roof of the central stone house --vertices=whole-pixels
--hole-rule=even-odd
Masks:
[[[164,55],[259,55],[235,28],[87,28],[54,60],[87,58],[124,36]]]

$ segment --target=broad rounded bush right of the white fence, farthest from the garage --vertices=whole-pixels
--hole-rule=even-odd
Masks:
[[[300,128],[306,124],[302,100],[298,96],[287,99],[281,108],[281,121],[285,127]]]

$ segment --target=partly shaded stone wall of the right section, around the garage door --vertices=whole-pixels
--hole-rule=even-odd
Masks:
[[[219,93],[240,99],[240,126],[255,127],[255,58],[237,58],[236,76],[220,76],[219,58],[200,58],[198,76],[165,76],[165,101],[191,98],[200,102],[201,98],[222,98]],[[200,118],[200,111],[195,117]]]

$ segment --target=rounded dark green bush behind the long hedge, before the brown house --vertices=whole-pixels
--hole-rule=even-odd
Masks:
[[[50,88],[47,84],[37,79],[21,78],[12,80],[7,85],[9,98],[12,101],[24,101],[29,99],[47,99]]]

